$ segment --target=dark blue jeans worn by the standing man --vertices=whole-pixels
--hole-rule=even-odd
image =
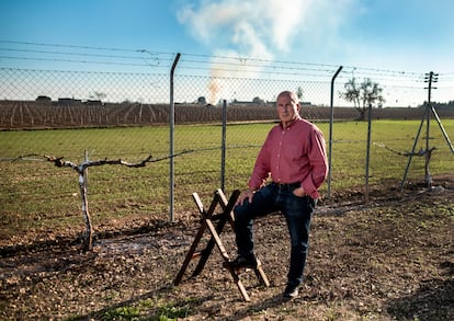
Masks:
[[[239,255],[253,253],[253,219],[280,210],[286,219],[291,236],[291,262],[287,285],[297,287],[303,282],[309,244],[310,218],[316,200],[309,196],[298,197],[293,194],[296,185],[268,184],[257,191],[253,199],[247,199],[234,208],[236,242]]]

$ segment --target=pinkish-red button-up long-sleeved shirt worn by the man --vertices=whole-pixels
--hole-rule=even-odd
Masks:
[[[300,183],[311,198],[328,175],[325,138],[321,130],[297,117],[288,127],[274,126],[259,152],[249,187],[258,190],[271,174],[275,183]]]

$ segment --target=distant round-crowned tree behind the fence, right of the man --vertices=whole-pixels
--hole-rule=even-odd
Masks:
[[[344,83],[344,92],[340,93],[340,96],[348,102],[353,102],[354,107],[360,113],[359,119],[365,119],[365,112],[370,104],[378,103],[379,105],[385,102],[382,95],[383,89],[377,82],[372,82],[370,78],[365,78],[362,83],[357,83],[353,77]]]

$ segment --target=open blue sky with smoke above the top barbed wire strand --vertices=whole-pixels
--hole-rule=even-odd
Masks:
[[[15,59],[37,44],[434,71],[453,83],[453,12],[452,0],[0,0],[0,67],[52,64]]]

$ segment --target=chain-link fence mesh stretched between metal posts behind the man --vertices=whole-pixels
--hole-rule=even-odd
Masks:
[[[79,217],[76,173],[53,167],[44,156],[64,157],[76,163],[99,159],[139,161],[152,156],[154,161],[140,169],[104,165],[89,170],[89,199],[95,221],[101,222],[107,213],[118,217],[152,214],[166,219],[173,210],[169,208],[171,187],[177,219],[196,215],[192,193],[211,198],[219,187],[226,194],[246,187],[265,135],[277,122],[274,102],[282,90],[298,92],[302,116],[325,133],[331,150],[331,195],[325,184],[326,199],[339,193],[362,193],[366,181],[396,185],[402,180],[408,151],[423,121],[423,107],[418,106],[424,105],[427,90],[420,78],[415,76],[416,81],[409,85],[401,84],[399,76],[393,73],[386,74],[390,81],[381,79],[383,71],[378,76],[370,70],[354,74],[375,76],[384,89],[386,103],[373,108],[368,126],[360,119],[357,110],[340,98],[351,72],[340,73],[331,96],[334,68],[324,68],[320,76],[310,73],[307,67],[300,73],[281,66],[257,78],[256,72],[241,73],[236,68],[215,72],[207,66],[205,71],[211,72],[201,74],[197,67],[203,66],[202,61],[193,62],[191,68],[189,64],[183,59],[181,70],[177,66],[172,98],[170,68],[168,73],[0,68],[2,220],[20,223],[15,221],[19,214],[25,214],[45,226],[46,219]],[[174,128],[170,128],[171,99]],[[453,108],[438,113],[445,133],[452,136]],[[451,172],[449,141],[439,124],[431,126],[430,137],[419,137],[417,151],[425,148],[428,138],[436,147],[431,173]],[[169,172],[171,161],[174,181]],[[411,183],[423,179],[424,170],[424,157],[412,158],[407,180]]]

